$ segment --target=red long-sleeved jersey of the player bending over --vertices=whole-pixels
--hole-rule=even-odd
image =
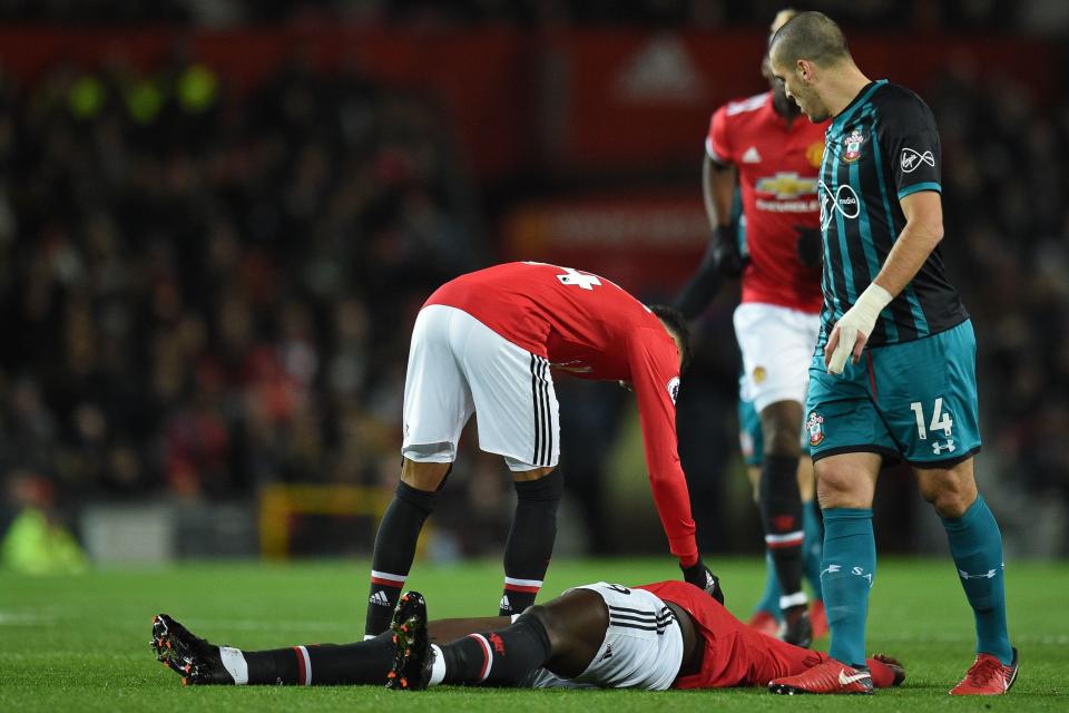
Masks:
[[[426,304],[463,310],[558,371],[631,382],[669,548],[685,565],[695,561],[690,496],[676,448],[679,351],[653,312],[605,277],[545,263],[507,263],[461,275]]]

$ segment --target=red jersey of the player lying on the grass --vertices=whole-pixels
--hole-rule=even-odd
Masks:
[[[746,626],[723,604],[686,582],[658,582],[635,588],[686,609],[705,638],[702,670],[676,678],[675,688],[763,686],[827,660],[827,654],[786,644]]]

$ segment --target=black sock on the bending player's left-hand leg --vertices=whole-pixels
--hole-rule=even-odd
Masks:
[[[390,627],[393,609],[412,568],[415,544],[423,522],[434,510],[437,491],[418,490],[399,482],[393,500],[382,516],[371,557],[371,587],[364,637],[377,636]]]

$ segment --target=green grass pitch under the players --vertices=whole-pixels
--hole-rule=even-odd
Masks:
[[[710,561],[728,605],[743,617],[756,599],[763,563]],[[500,565],[415,567],[410,586],[432,617],[496,614]],[[881,561],[870,612],[871,651],[903,660],[901,690],[856,697],[796,699],[761,690],[702,692],[439,688],[401,694],[371,686],[184,688],[149,652],[149,619],[167,612],[194,632],[244,648],[349,642],[361,636],[364,561],[297,565],[193,564],[97,570],[80,577],[0,575],[0,711],[1069,711],[1069,565],[1014,563],[1010,628],[1021,675],[1009,696],[951,700],[948,688],[972,660],[972,616],[953,567],[941,560]],[[555,561],[545,597],[585,582],[674,578],[664,559]],[[826,647],[827,641],[818,642]]]

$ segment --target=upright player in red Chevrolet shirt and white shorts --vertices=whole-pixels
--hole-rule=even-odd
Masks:
[[[794,14],[781,11],[772,31]],[[779,584],[779,634],[786,642],[808,646],[812,624],[802,589],[805,508],[798,469],[807,365],[822,304],[816,179],[824,127],[801,116],[774,81],[767,58],[762,72],[772,90],[730,101],[713,115],[703,188],[714,237],[677,304],[686,316],[696,316],[724,277],[742,275],[742,304],[735,310],[744,368],[741,391],[761,417],[763,449],[754,462],[761,468],[757,490],[765,545]],[[743,194],[748,262],[742,257],[732,221],[736,184]],[[812,509],[810,516],[816,518]],[[818,584],[814,589],[820,596]]]

